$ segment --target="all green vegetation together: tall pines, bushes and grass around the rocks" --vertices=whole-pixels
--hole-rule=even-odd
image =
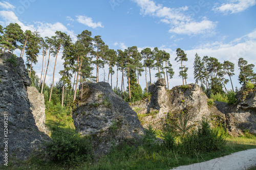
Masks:
[[[153,51],[150,48],[145,48],[139,53],[137,46],[127,47],[124,51],[118,50],[116,52],[109,49],[101,36],[92,37],[92,33],[88,30],[84,30],[77,35],[77,41],[74,43],[69,35],[59,31],[56,31],[54,36],[45,38],[41,38],[37,31],[32,33],[28,30],[23,33],[17,23],[10,23],[1,30],[1,52],[8,51],[12,53],[19,48],[22,51],[20,57],[23,56],[24,52],[26,54],[26,65],[32,86],[38,88],[45,96],[46,126],[51,129],[53,139],[48,143],[50,161],[45,160],[44,153],[32,155],[28,161],[18,162],[17,166],[20,169],[169,169],[224,156],[232,152],[256,148],[256,137],[246,130],[244,136],[231,138],[222,128],[211,129],[208,122],[204,120],[198,131],[195,131],[193,129],[194,125],[188,125],[191,115],[183,110],[175,119],[168,120],[162,131],[159,132],[159,130],[154,130],[149,126],[140,142],[135,144],[131,141],[120,141],[122,144],[112,147],[108,155],[96,158],[92,154],[90,136],[82,137],[75,133],[71,117],[72,106],[74,110],[76,109],[74,101],[77,101],[77,98],[82,98],[82,96],[77,96],[79,91],[77,90],[78,82],[81,84],[83,82],[99,82],[99,68],[108,65],[108,81],[112,86],[112,76],[115,74],[113,68],[117,66],[116,72],[121,71],[122,75],[121,83],[119,80],[121,89],[118,87],[117,80],[114,91],[122,99],[126,102],[136,102],[143,97],[150,98],[151,93],[147,89],[148,85],[153,82],[152,69],[157,69],[156,78],[164,77],[167,82],[168,78],[173,78],[174,71],[169,60],[169,54],[163,50],[158,50],[157,47]],[[63,69],[59,72],[61,79],[57,83],[52,81],[49,86],[45,84],[46,76],[42,77],[41,73],[42,79],[39,79],[32,67],[33,63],[37,63],[40,49],[42,58],[47,61],[45,62],[47,65],[44,65],[46,72],[41,71],[45,72],[45,75],[47,75],[49,61],[53,61],[53,58],[50,59],[51,56],[55,57],[55,65],[58,54],[62,54],[61,58],[65,61]],[[59,53],[60,49],[62,53]],[[175,61],[180,63],[179,76],[183,82],[181,89],[187,90],[189,89],[186,82],[188,67],[184,65],[184,62],[188,59],[181,48],[177,48],[176,54]],[[49,56],[48,59],[47,56]],[[144,61],[142,61],[142,58],[144,58]],[[16,60],[16,57],[12,55],[7,61],[16,67]],[[44,64],[44,62],[42,63]],[[240,68],[238,76],[240,83],[245,85],[247,90],[253,89],[252,82],[256,80],[256,74],[253,72],[254,65],[248,64],[247,61],[240,58],[238,66]],[[94,67],[96,67],[95,76],[93,76]],[[144,68],[145,73],[147,73],[148,68],[150,82],[145,81],[146,88],[142,91],[139,78]],[[196,54],[194,76],[196,82],[201,83],[203,90],[205,89],[204,85],[206,86],[204,92],[210,97],[207,101],[208,105],[213,105],[214,100],[229,104],[236,102],[233,87],[232,91],[226,89],[229,80],[232,85],[233,68],[234,64],[231,62],[224,61],[224,63],[220,63],[218,59],[208,56],[201,59]],[[72,75],[75,75],[73,77],[75,78],[74,82]],[[124,77],[127,78],[126,89],[124,89]],[[229,80],[226,79],[227,77]],[[146,76],[145,79],[147,79]],[[224,94],[225,92],[227,95]],[[98,95],[99,99],[102,97],[102,95]],[[181,102],[184,102],[184,100]],[[108,108],[112,107],[108,98],[104,98],[102,105]],[[99,104],[94,103],[93,106],[97,107]],[[144,116],[154,117],[156,113],[157,111],[138,114],[138,117],[141,120]],[[141,124],[143,123],[141,122]],[[119,126],[120,122],[112,122],[110,129],[114,133]],[[157,139],[157,133],[159,133],[158,137],[162,141]],[[225,137],[227,137],[227,141]],[[11,163],[9,166],[10,168],[16,168]]]

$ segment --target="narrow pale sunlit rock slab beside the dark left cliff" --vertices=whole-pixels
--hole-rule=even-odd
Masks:
[[[46,127],[46,106],[44,94],[40,94],[35,87],[28,86],[28,98],[30,102],[30,109],[35,119],[35,125],[38,130],[46,134],[49,133]]]

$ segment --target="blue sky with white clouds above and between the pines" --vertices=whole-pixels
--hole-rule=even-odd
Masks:
[[[0,25],[5,27],[10,22],[17,22],[24,31],[37,30],[42,37],[52,36],[55,31],[66,32],[73,41],[83,30],[89,30],[93,37],[101,35],[102,40],[115,50],[134,45],[139,50],[157,46],[171,56],[176,73],[170,87],[182,84],[178,77],[179,65],[174,60],[177,48],[184,50],[188,57],[185,63],[188,83],[195,83],[193,62],[196,53],[201,57],[215,57],[220,62],[235,63],[236,75],[232,80],[238,87],[241,87],[237,80],[238,59],[242,57],[256,65],[256,0],[0,1]],[[34,66],[37,75],[40,75],[41,60],[39,55]],[[60,78],[61,63],[59,57],[55,82]],[[48,84],[52,81],[53,66],[54,59],[51,58]],[[100,71],[101,74],[103,70]],[[144,77],[143,72],[142,87],[145,87]],[[231,88],[230,83],[227,88]]]

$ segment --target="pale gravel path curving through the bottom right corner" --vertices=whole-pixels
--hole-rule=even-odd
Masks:
[[[206,162],[191,165],[179,166],[176,170],[242,170],[256,166],[256,149],[240,151],[224,157],[211,159]]]

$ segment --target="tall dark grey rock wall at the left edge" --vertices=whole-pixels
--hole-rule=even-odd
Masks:
[[[0,55],[0,164],[8,160],[26,160],[31,152],[45,148],[49,136],[38,130],[30,110],[27,86],[31,84],[22,58],[11,60],[11,54]],[[5,126],[4,116],[8,116]],[[8,128],[7,136],[4,136]],[[7,138],[7,139],[5,139]],[[7,143],[4,143],[7,141]],[[8,152],[5,152],[6,144]]]

